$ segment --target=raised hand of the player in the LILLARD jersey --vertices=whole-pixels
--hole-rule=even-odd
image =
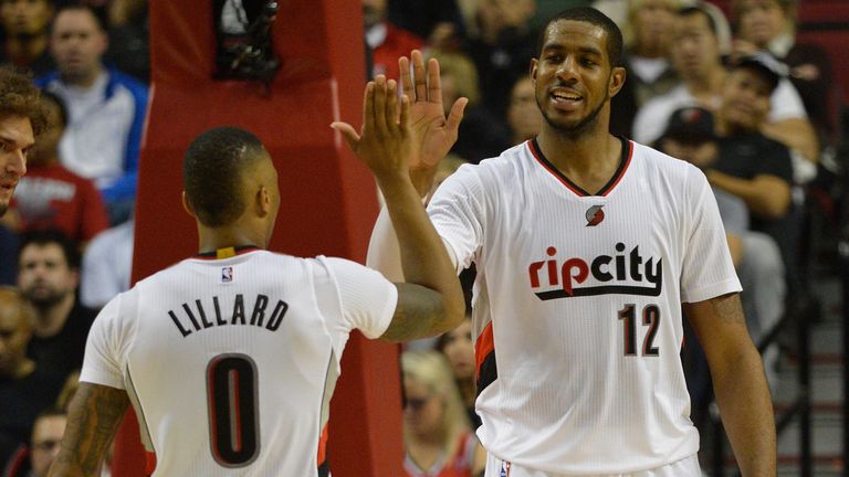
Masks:
[[[409,163],[417,161],[410,127],[410,100],[407,95],[398,104],[398,87],[394,80],[379,75],[366,85],[363,99],[360,132],[347,123],[333,123],[352,151],[378,181],[408,177]]]

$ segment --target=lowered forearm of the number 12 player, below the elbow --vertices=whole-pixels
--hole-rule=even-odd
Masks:
[[[761,357],[754,347],[712,370],[722,422],[744,477],[773,477],[776,437],[773,403]]]

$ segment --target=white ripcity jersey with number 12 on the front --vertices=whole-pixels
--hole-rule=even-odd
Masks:
[[[622,141],[590,195],[533,141],[463,166],[429,213],[462,269],[484,447],[559,474],[620,474],[694,454],[681,303],[741,289],[708,181]]]

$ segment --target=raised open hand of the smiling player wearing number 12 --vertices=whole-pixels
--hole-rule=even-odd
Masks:
[[[424,59],[418,50],[412,51],[410,59],[401,56],[398,66],[401,71],[401,91],[410,97],[410,129],[417,151],[412,157],[415,161],[410,162],[410,176],[416,189],[423,195],[430,191],[439,161],[457,141],[458,128],[469,100],[459,98],[446,118],[439,62],[431,59],[426,67]]]

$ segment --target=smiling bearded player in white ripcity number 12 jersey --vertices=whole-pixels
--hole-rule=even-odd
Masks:
[[[708,181],[684,161],[609,134],[625,70],[621,34],[607,17],[559,13],[538,53],[530,73],[539,135],[461,167],[428,206],[458,271],[478,268],[486,477],[701,476],[679,358],[682,306],[743,475],[774,476],[769,391]],[[415,93],[421,150],[436,151],[434,135],[451,124],[438,113],[438,65],[426,72],[418,52],[412,60],[402,86]],[[421,159],[411,170],[423,194],[438,161]],[[398,239],[381,215],[369,263],[396,278],[392,246],[406,240]]]

